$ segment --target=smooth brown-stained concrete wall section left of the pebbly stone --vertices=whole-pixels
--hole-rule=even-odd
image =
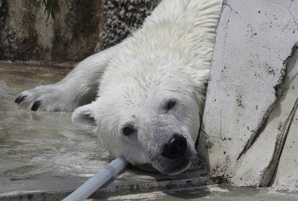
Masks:
[[[100,1],[59,1],[57,24],[46,26],[44,7],[32,0],[3,0],[0,60],[75,62],[94,53]]]

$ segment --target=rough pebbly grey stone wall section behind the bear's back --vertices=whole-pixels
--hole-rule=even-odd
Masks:
[[[138,29],[158,0],[102,0],[96,51],[116,45]]]

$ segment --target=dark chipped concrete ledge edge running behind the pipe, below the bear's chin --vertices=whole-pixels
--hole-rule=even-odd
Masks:
[[[124,196],[129,194],[143,194],[168,190],[181,190],[194,187],[212,186],[222,184],[223,177],[219,175],[205,175],[204,177],[159,181],[139,185],[125,185],[116,187],[106,187],[96,190],[88,199],[105,198],[111,196]],[[14,192],[13,195],[0,194],[0,200],[7,201],[27,201],[42,200],[53,201],[62,200],[73,191],[61,192]]]

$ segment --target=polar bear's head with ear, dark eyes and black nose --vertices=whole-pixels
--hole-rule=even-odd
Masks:
[[[107,67],[98,98],[74,111],[74,123],[98,135],[114,157],[181,173],[196,154],[209,70],[189,72],[156,55],[119,60]]]

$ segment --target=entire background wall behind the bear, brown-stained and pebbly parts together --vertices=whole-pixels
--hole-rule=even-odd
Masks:
[[[74,63],[121,42],[158,0],[59,0],[57,24],[35,0],[0,0],[0,60]]]

